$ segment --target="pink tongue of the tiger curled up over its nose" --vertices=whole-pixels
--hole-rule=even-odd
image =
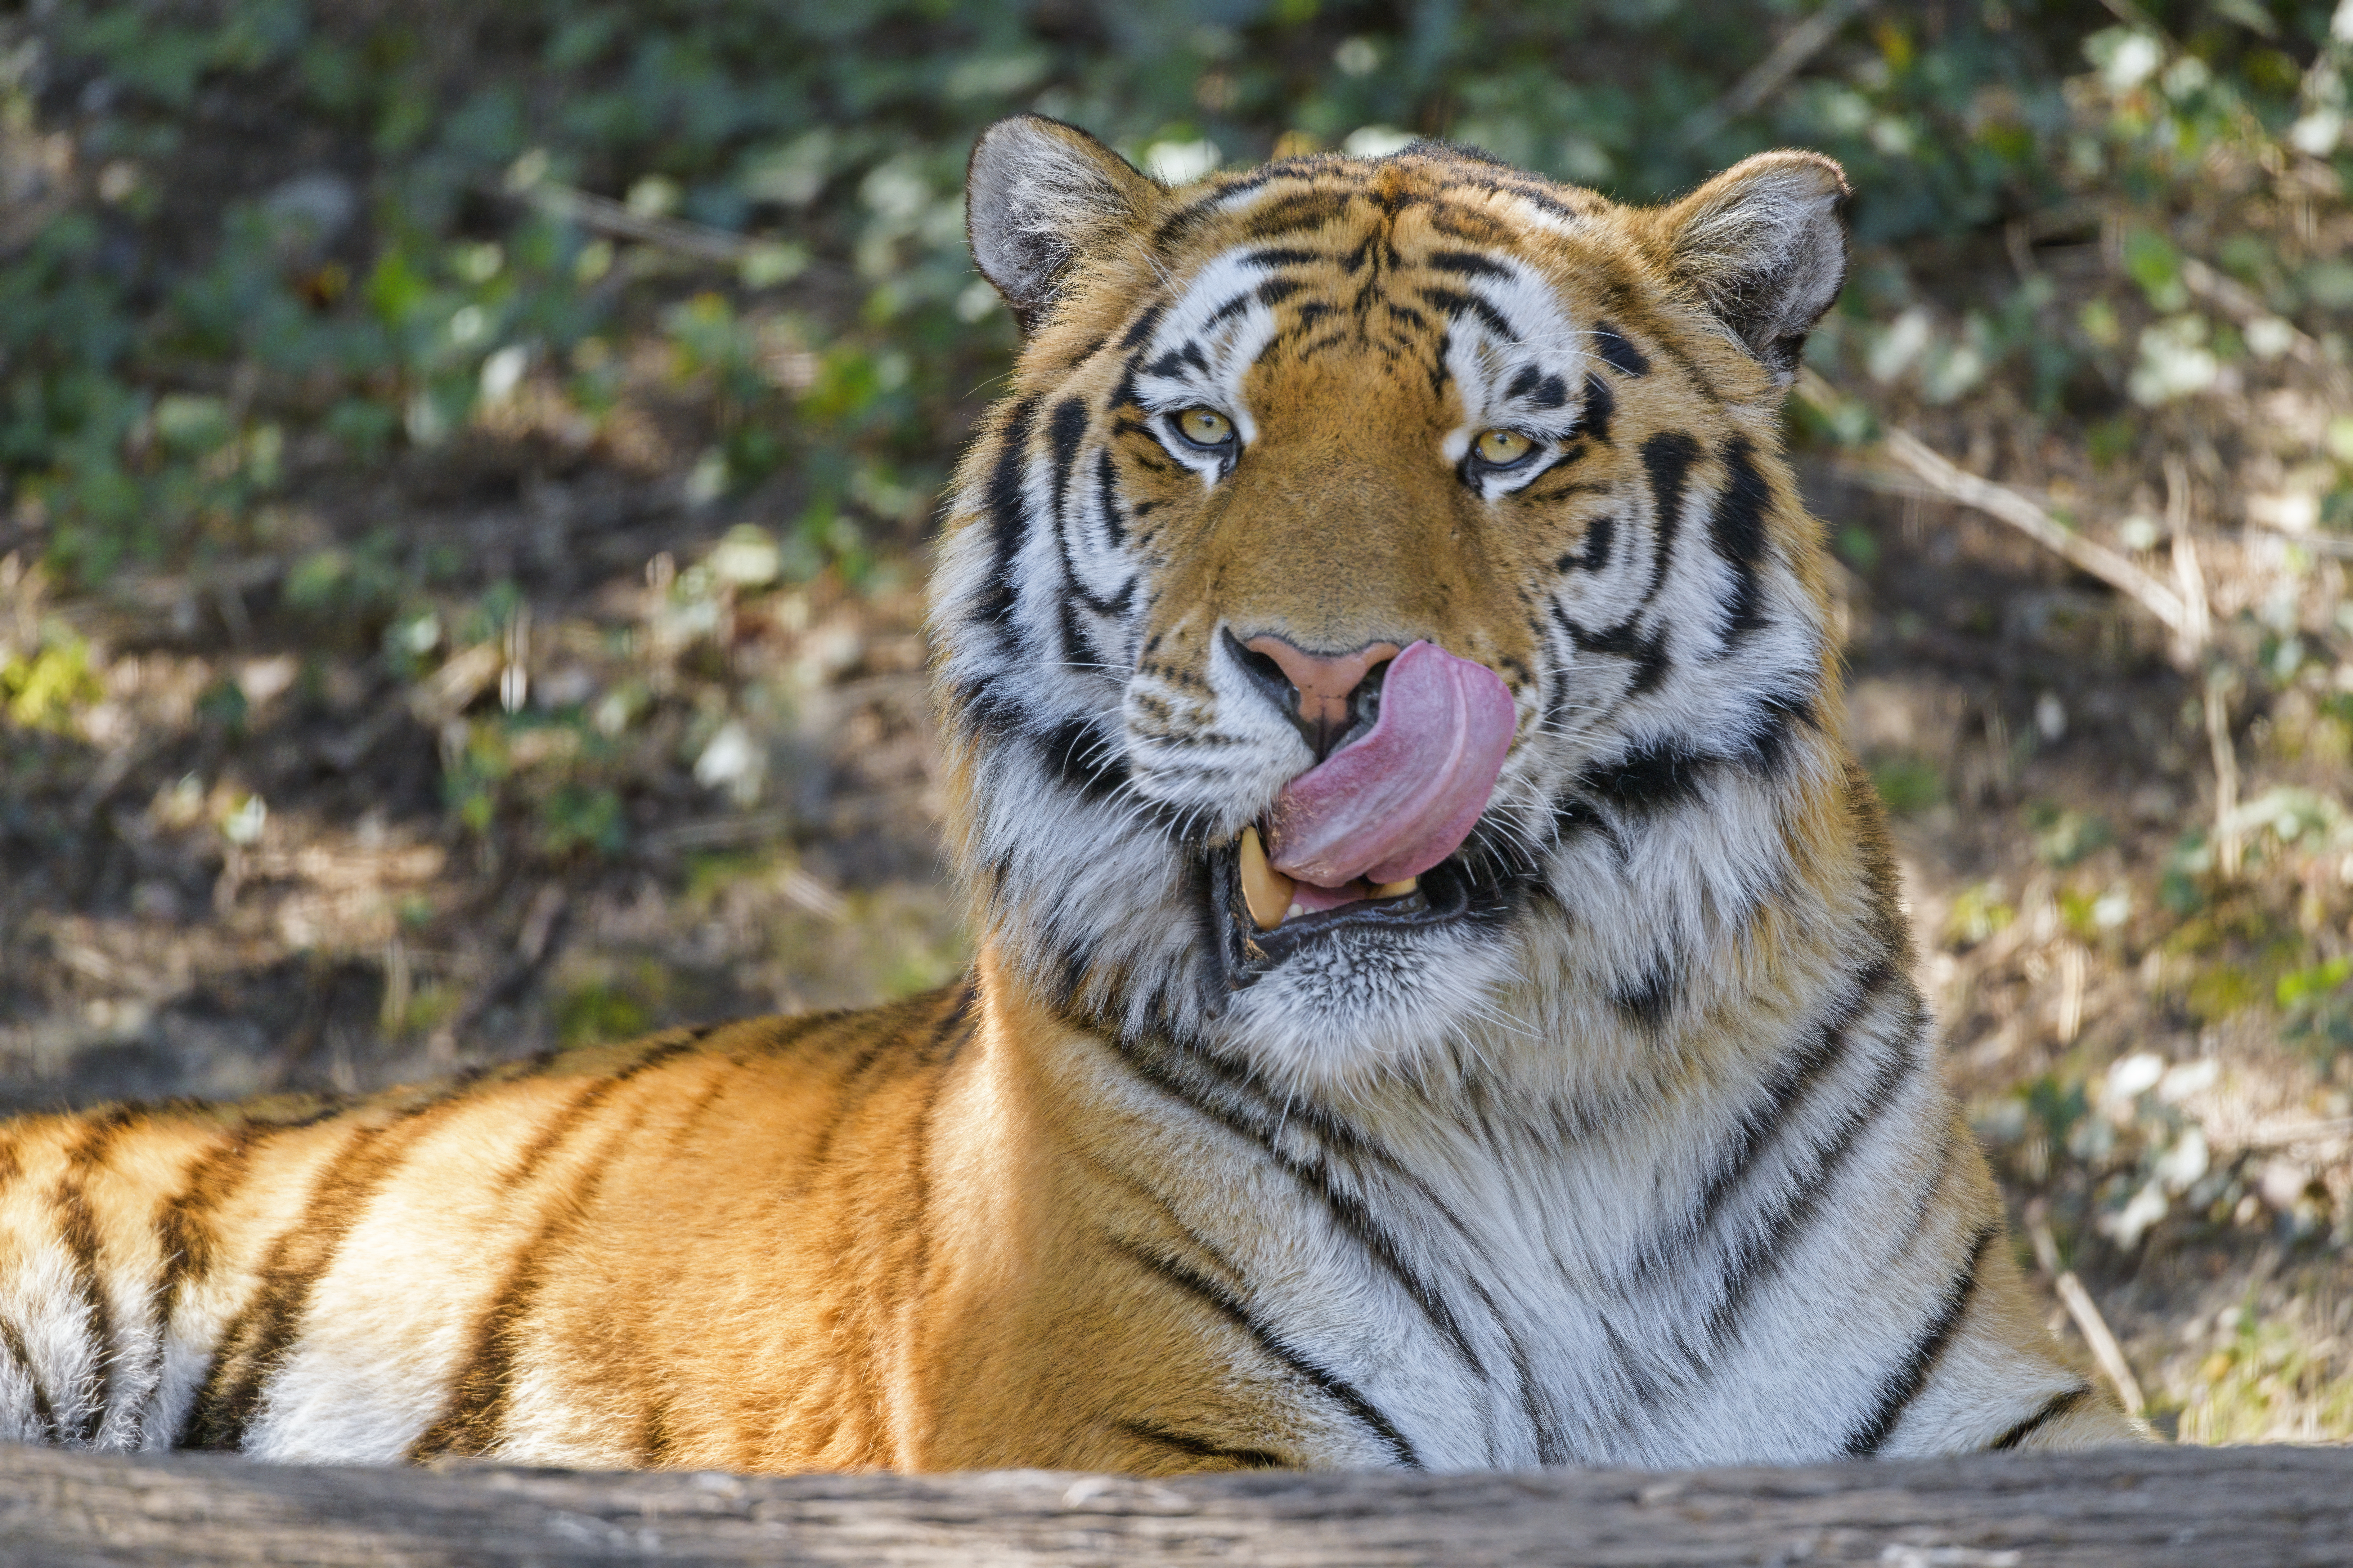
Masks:
[[[1322,889],[1419,877],[1487,809],[1513,724],[1494,670],[1412,644],[1388,665],[1372,731],[1275,797],[1268,863]]]

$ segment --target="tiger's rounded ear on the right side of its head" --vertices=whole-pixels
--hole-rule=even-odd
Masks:
[[[1821,153],[1758,153],[1664,214],[1675,273],[1781,386],[1847,280],[1847,195]]]

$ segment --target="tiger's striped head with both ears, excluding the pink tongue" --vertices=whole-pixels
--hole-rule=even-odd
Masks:
[[[1831,919],[1849,766],[1777,418],[1845,195],[1767,153],[1621,207],[1442,143],[1167,188],[993,125],[972,252],[1026,343],[932,583],[993,959],[1313,1091],[1664,1027],[1802,889]],[[1409,658],[1489,703],[1492,790],[1412,877],[1268,879]]]

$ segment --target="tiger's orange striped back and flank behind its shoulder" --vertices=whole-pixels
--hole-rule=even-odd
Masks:
[[[953,990],[353,1105],[16,1121],[0,1420],[268,1460],[904,1458],[859,1385],[908,1333],[969,1027]]]

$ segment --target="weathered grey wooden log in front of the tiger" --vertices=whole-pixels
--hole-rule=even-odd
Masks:
[[[2344,1568],[2353,1448],[1134,1481],[280,1469],[0,1446],[0,1563]]]

